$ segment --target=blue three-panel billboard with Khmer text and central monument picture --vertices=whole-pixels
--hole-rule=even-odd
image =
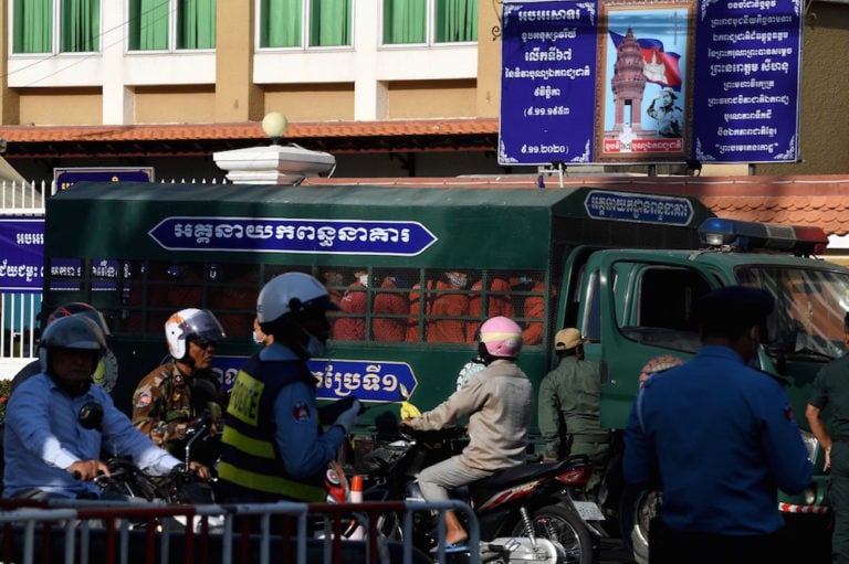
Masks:
[[[797,161],[801,10],[505,0],[499,163]]]

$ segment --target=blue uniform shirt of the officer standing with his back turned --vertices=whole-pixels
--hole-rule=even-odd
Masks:
[[[659,478],[678,531],[767,534],[784,524],[776,488],[797,493],[813,465],[782,384],[726,347],[650,377],[631,409],[625,478]]]

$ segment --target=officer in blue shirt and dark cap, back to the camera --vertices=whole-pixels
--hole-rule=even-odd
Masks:
[[[782,383],[748,366],[774,306],[743,286],[700,298],[701,349],[649,377],[635,402],[622,465],[630,487],[662,491],[652,563],[787,558],[777,489],[800,492],[813,468]]]

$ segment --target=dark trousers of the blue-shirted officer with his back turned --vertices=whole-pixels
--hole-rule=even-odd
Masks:
[[[649,524],[650,564],[789,564],[793,556],[787,549],[784,531],[732,536],[675,531],[660,518]]]

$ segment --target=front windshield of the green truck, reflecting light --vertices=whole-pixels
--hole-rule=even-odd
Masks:
[[[768,350],[824,360],[843,354],[849,275],[825,268],[750,266],[737,270],[737,280],[764,288],[776,299],[766,328]]]

